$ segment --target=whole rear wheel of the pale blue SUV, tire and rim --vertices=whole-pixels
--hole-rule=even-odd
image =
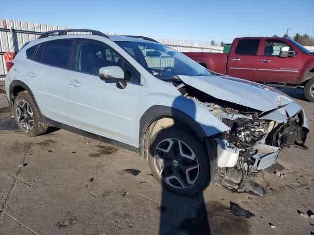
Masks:
[[[12,113],[19,129],[26,136],[39,136],[47,132],[49,125],[40,121],[37,106],[28,92],[16,96]]]

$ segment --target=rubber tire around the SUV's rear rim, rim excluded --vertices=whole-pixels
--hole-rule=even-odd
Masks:
[[[20,101],[23,102],[23,100],[25,100],[28,103],[32,111],[33,125],[32,125],[31,130],[29,131],[26,131],[20,124],[20,121],[18,120],[18,114],[17,114],[18,104]],[[14,118],[15,118],[17,126],[26,136],[39,136],[47,132],[49,125],[40,121],[40,114],[35,104],[35,101],[28,94],[28,92],[24,91],[24,92],[19,93],[16,96],[14,100],[13,113],[14,113]]]

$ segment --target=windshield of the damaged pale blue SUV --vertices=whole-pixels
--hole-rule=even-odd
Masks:
[[[118,41],[116,43],[147,71],[161,80],[173,80],[175,75],[211,75],[203,66],[171,47],[147,42]]]

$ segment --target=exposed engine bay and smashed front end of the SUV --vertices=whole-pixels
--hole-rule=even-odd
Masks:
[[[229,127],[213,138],[217,142],[217,172],[213,182],[233,191],[264,195],[267,190],[254,182],[258,172],[273,165],[284,147],[304,145],[309,130],[302,126],[303,110],[286,115],[283,122],[272,120],[272,112],[262,112],[217,99],[192,86],[181,83],[177,89],[186,98],[206,105],[209,112]],[[248,97],[249,99],[249,97]],[[290,112],[291,114],[291,112]]]

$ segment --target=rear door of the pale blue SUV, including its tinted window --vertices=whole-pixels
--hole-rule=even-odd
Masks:
[[[66,85],[72,46],[72,39],[42,43],[25,68],[27,85],[42,114],[63,123],[69,122]]]

